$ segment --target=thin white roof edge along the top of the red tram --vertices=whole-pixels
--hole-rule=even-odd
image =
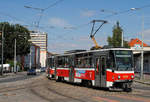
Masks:
[[[128,50],[128,51],[132,51],[132,49],[129,49],[129,48],[109,48],[109,49],[87,50],[87,51],[82,51],[82,52],[60,54],[60,55],[56,55],[56,56],[67,56],[67,55],[73,55],[73,54],[83,54],[83,53],[92,53],[92,52],[109,51],[109,50]]]

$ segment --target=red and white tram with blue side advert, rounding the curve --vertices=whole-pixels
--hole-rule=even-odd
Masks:
[[[87,86],[132,90],[133,52],[127,48],[109,48],[57,55],[49,72],[57,81]]]

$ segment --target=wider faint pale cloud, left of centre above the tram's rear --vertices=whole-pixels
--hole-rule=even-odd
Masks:
[[[49,24],[50,25],[53,25],[53,26],[56,26],[56,27],[71,27],[71,24],[69,24],[67,21],[65,21],[64,19],[62,18],[50,18],[49,19]]]

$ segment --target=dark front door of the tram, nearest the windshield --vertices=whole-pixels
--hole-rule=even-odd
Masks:
[[[95,59],[95,86],[105,87],[106,85],[106,57],[99,56]]]

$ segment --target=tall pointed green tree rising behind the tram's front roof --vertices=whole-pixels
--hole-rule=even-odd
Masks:
[[[109,46],[121,47],[121,36],[123,29],[120,27],[119,22],[117,21],[116,25],[113,27],[113,36],[108,36],[107,42]],[[124,40],[124,47],[129,47],[128,42]]]

